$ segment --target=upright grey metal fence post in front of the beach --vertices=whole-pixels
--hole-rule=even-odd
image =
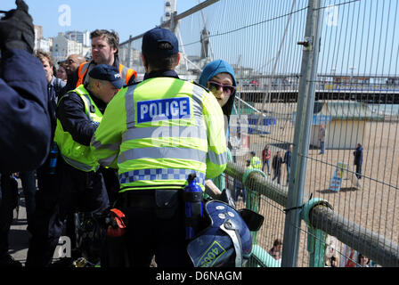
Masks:
[[[314,112],[314,86],[320,50],[323,0],[309,0],[306,16],[305,40],[301,78],[297,96],[297,117],[294,132],[292,172],[289,177],[287,216],[284,224],[282,267],[297,266],[297,249],[301,228],[301,206],[304,200],[306,157],[309,151],[310,130]]]

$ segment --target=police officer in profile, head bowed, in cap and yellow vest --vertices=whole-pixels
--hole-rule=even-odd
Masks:
[[[37,192],[27,266],[50,265],[65,216],[76,211],[102,213],[109,207],[90,140],[107,104],[123,84],[118,69],[100,64],[90,71],[87,85],[79,85],[61,98],[54,136],[60,157],[53,182]],[[58,192],[54,193],[52,185],[57,185]]]

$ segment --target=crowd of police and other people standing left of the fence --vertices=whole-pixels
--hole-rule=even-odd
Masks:
[[[231,65],[210,62],[199,84],[184,81],[175,72],[177,38],[152,28],[142,37],[145,74],[138,81],[118,60],[118,33],[95,29],[92,59],[69,54],[56,69],[49,53],[34,53],[28,5],[16,4],[0,20],[0,93],[9,106],[0,114],[7,126],[0,140],[0,266],[21,266],[8,253],[9,184],[18,174],[28,211],[25,266],[53,265],[61,234],[76,236],[70,224],[79,212],[92,221],[107,217],[101,221],[108,224],[98,222],[102,227],[92,232],[99,248],[93,248],[98,240],[89,245],[97,264],[148,267],[155,256],[159,267],[191,267],[183,200],[203,198],[176,190],[195,173],[210,197],[224,193],[218,177],[227,161],[224,117],[228,124],[236,92]],[[158,126],[173,132],[153,140]],[[111,248],[111,238],[120,235],[123,253]]]

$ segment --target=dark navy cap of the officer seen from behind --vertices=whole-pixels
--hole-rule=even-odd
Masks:
[[[159,43],[169,43],[170,50],[160,50]],[[167,28],[152,28],[142,36],[142,53],[169,56],[179,53],[179,42],[175,34]]]

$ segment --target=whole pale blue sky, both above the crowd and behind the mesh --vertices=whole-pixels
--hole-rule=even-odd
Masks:
[[[164,0],[25,0],[44,37],[69,30],[114,29],[119,42],[159,25]],[[200,0],[203,2],[204,0]],[[225,0],[205,10],[215,58],[271,73],[293,0]],[[177,13],[199,0],[176,0]],[[297,0],[277,73],[300,70],[307,0]],[[332,6],[332,7],[330,7]],[[0,0],[0,10],[15,0]],[[399,73],[399,2],[396,0],[324,0],[319,72]],[[278,17],[281,16],[282,17]],[[181,44],[188,55],[199,55],[201,13],[181,21]],[[220,35],[220,36],[218,36]],[[180,40],[180,39],[179,39]],[[191,45],[194,43],[194,45]]]

